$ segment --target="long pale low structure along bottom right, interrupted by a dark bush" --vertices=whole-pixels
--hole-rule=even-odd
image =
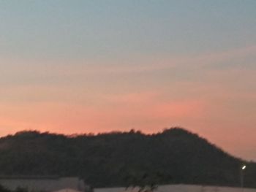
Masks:
[[[138,192],[138,188],[94,188],[94,192]],[[242,192],[241,188],[201,186],[201,185],[160,185],[155,192]],[[244,188],[243,192],[256,192],[256,189]]]

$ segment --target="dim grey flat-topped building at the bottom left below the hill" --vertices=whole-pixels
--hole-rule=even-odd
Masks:
[[[28,191],[59,191],[61,189],[73,189],[75,191],[89,192],[89,186],[78,177],[0,177],[0,185],[9,190],[26,188]]]

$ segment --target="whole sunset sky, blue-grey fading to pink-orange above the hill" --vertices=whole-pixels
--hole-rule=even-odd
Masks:
[[[181,126],[256,161],[255,0],[0,0],[0,137]]]

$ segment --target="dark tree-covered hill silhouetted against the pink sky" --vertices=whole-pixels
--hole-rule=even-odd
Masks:
[[[256,164],[183,128],[64,136],[21,131],[0,139],[0,175],[79,176],[93,187],[187,183],[256,188]]]

